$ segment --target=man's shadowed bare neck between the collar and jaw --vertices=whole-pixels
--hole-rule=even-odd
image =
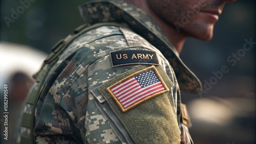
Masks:
[[[126,2],[132,3],[138,8],[142,9],[146,12],[151,18],[158,24],[158,26],[163,30],[166,34],[170,42],[175,46],[176,50],[181,53],[184,42],[186,40],[186,36],[183,33],[179,33],[174,26],[169,25],[165,21],[163,21],[155,12],[153,12],[150,7],[147,5],[145,0],[126,0]]]

